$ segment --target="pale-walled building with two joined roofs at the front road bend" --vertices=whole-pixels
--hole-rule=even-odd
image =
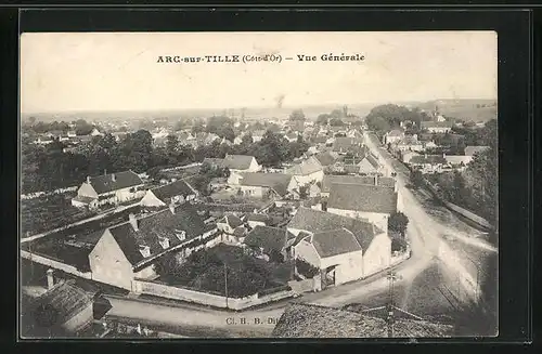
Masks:
[[[387,231],[367,220],[301,207],[287,224],[292,257],[321,271],[326,285],[360,279],[390,265]]]

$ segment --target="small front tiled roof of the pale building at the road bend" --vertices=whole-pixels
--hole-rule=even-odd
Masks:
[[[356,236],[344,227],[315,233],[311,242],[321,258],[362,250]]]

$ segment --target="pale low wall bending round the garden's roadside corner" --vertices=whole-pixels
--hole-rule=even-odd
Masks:
[[[193,289],[172,287],[158,281],[146,279],[133,279],[132,291],[136,293],[150,294],[172,300],[193,302],[202,305],[209,305],[220,309],[245,310],[251,306],[260,305],[271,301],[292,298],[295,292],[287,288],[281,287],[279,291],[267,296],[258,296],[258,293],[245,298],[227,298],[215,293],[196,291]],[[273,290],[269,290],[273,291]]]

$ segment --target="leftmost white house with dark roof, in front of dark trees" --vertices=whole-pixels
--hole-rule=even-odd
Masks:
[[[120,204],[143,197],[145,188],[141,178],[133,171],[104,173],[87,176],[77,196],[72,199],[75,207],[98,208],[105,204]]]

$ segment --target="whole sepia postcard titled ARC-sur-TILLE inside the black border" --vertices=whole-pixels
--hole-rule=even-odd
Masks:
[[[499,336],[496,32],[20,45],[22,340]]]

